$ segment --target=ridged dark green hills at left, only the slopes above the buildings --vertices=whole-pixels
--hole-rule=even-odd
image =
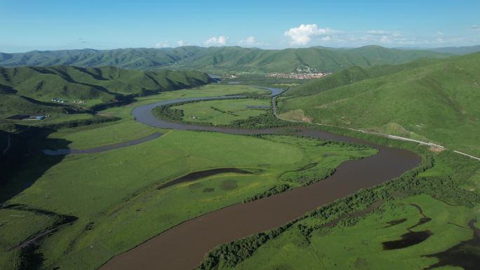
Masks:
[[[147,95],[201,86],[211,82],[202,72],[159,70],[143,72],[116,67],[13,67],[0,68],[5,91],[38,100],[109,100],[116,95]],[[1,89],[1,88],[0,88]]]

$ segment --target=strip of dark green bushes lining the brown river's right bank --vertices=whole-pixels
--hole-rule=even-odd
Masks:
[[[411,148],[411,144],[406,144],[406,146]],[[330,225],[329,222],[340,220],[343,226],[353,226],[359,218],[355,217],[354,213],[366,210],[374,203],[394,201],[399,194],[403,197],[428,194],[439,201],[470,208],[475,203],[480,203],[478,193],[461,188],[462,184],[467,184],[470,177],[479,169],[479,164],[467,157],[459,157],[449,151],[432,154],[425,147],[415,147],[415,149],[421,154],[422,162],[400,177],[377,187],[361,190],[328,205],[323,205],[284,226],[219,245],[208,252],[197,269],[215,269],[220,265],[233,268],[251,257],[260,246],[291,229],[298,229],[308,241],[314,231]],[[436,161],[441,161],[441,164],[436,164]],[[448,173],[427,172],[436,172],[439,167],[444,166],[444,163],[447,163],[454,170]],[[280,189],[283,188],[280,187]]]

